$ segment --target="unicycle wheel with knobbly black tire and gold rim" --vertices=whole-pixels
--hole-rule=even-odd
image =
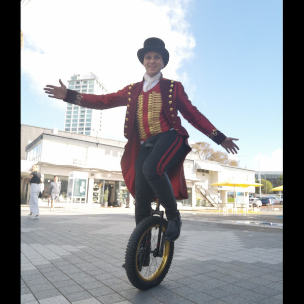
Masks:
[[[164,242],[164,254],[162,257],[154,256],[153,254],[157,246],[160,220],[160,216],[149,216],[143,219],[134,229],[128,242],[125,269],[133,286],[141,290],[159,285],[165,278],[173,258],[174,242]],[[167,220],[163,219],[162,240],[167,224]],[[145,240],[147,235],[150,237],[150,246],[144,249],[144,252],[149,255],[149,265],[141,266],[137,257],[140,250],[141,254],[143,252],[140,244],[142,244],[142,240]]]

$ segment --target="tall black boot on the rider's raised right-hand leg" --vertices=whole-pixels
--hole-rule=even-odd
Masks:
[[[148,182],[160,204],[166,210],[168,227],[165,232],[165,240],[175,241],[180,234],[181,219],[170,179],[165,173],[160,178]]]

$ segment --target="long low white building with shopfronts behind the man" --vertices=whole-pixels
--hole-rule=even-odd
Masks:
[[[44,174],[44,198],[48,197],[49,183],[53,176],[58,175],[62,196],[68,201],[123,206],[130,200],[132,207],[133,198],[126,188],[120,166],[125,144],[124,141],[21,125],[21,204],[28,203],[26,179],[32,164],[37,163],[40,173]],[[254,186],[210,186],[213,182],[231,178],[254,183],[255,172],[218,162],[202,161],[194,153],[187,155],[184,173],[189,198],[178,204],[185,209],[226,206],[234,193],[237,193],[238,204],[248,204],[249,193],[255,193]],[[76,187],[80,187],[80,181],[86,187],[83,195],[78,192],[79,188],[76,191]]]

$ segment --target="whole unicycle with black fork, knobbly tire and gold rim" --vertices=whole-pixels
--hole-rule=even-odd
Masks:
[[[159,285],[169,271],[174,252],[174,241],[165,241],[168,221],[164,211],[151,210],[132,232],[125,256],[128,279],[138,289],[146,290]]]

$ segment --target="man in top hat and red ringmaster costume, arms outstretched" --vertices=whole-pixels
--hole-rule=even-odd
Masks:
[[[61,80],[60,87],[47,85],[44,90],[49,97],[83,107],[127,106],[124,135],[128,142],[121,167],[128,190],[135,197],[136,225],[149,216],[150,204],[156,196],[168,219],[165,240],[174,241],[181,226],[176,199],[188,198],[183,161],[191,151],[189,135],[181,126],[177,111],[228,153],[237,153],[239,147],[233,140],[238,139],[217,130],[188,100],[180,82],[163,78],[161,69],[168,64],[169,52],[161,39],[146,39],[137,57],[146,70],[143,80],[116,93],[78,93],[68,90]]]

